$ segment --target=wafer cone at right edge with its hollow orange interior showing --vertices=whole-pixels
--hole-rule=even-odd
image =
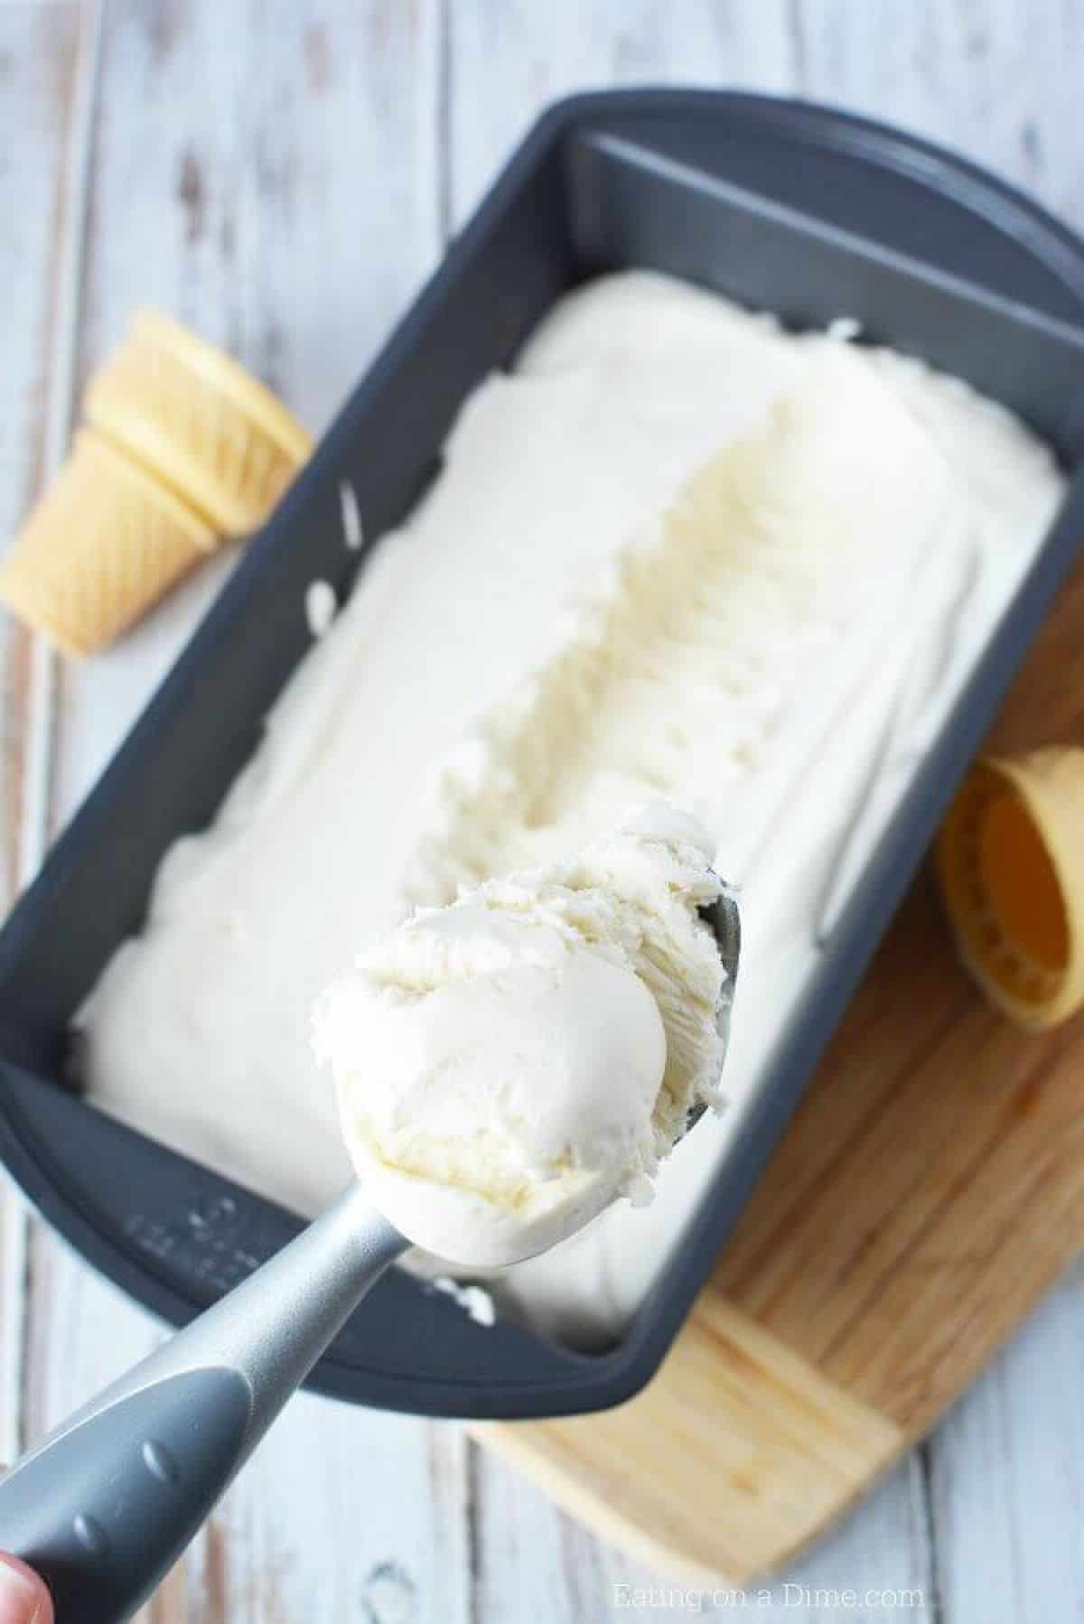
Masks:
[[[1084,1005],[1084,749],[977,762],[938,838],[964,963],[1019,1025]]]

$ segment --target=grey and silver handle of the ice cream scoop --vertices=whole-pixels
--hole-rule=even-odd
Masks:
[[[137,1611],[405,1247],[353,1184],[0,1479],[0,1549],[44,1577],[63,1624]]]

